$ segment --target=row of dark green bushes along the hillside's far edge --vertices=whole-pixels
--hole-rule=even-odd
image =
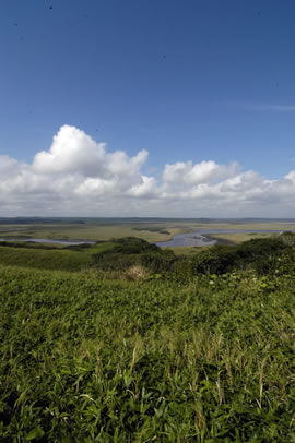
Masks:
[[[114,242],[114,249],[93,254],[96,268],[126,271],[130,266],[141,265],[151,273],[170,273],[184,278],[247,268],[260,275],[294,271],[294,247],[283,237],[252,239],[238,246],[216,244],[192,256],[175,255],[172,250],[163,250],[133,237]]]

